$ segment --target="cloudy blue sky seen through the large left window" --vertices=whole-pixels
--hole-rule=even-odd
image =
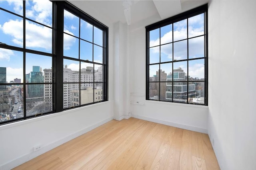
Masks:
[[[2,1],[0,7],[19,15],[23,15],[23,1]],[[23,47],[23,20],[21,17],[12,15],[0,10],[0,42],[16,47]],[[43,23],[45,27],[26,20],[26,48],[46,53],[52,53],[52,2],[48,0],[26,1],[26,17]],[[79,18],[68,11],[64,11],[64,55],[78,59],[80,50],[81,59],[102,63],[102,31],[90,23],[81,20],[80,23],[81,48],[79,49],[79,39],[70,35],[79,36]],[[94,29],[94,35],[93,35]],[[68,34],[70,35],[68,35]],[[94,37],[93,37],[94,36]],[[92,41],[97,45],[92,45]],[[92,47],[94,51],[92,51]],[[66,62],[69,68],[77,70],[79,63],[74,61]],[[44,68],[52,67],[51,57],[26,53],[26,74],[32,71],[32,66]],[[82,68],[90,66],[82,63]],[[23,53],[14,50],[0,49],[0,67],[6,67],[6,79],[8,82],[14,78],[20,78],[23,82]],[[96,65],[95,68],[98,68]]]

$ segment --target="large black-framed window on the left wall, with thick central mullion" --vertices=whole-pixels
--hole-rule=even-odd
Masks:
[[[107,59],[108,27],[70,3],[0,1],[0,124],[106,101]]]

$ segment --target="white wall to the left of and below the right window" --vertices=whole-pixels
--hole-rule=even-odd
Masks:
[[[132,117],[154,121],[166,125],[180,127],[188,130],[207,133],[208,107],[188,106],[186,104],[173,104],[167,102],[146,101],[146,29],[145,26],[160,18],[145,20],[130,29],[130,89],[132,93],[143,96],[131,96],[132,101],[142,102],[144,105],[131,104]],[[142,25],[144,24],[144,25]]]

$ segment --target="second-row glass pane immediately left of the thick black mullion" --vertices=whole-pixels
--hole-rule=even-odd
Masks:
[[[52,29],[26,20],[26,48],[52,53]]]

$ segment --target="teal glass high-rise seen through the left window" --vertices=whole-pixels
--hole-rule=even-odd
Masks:
[[[28,77],[28,83],[43,83],[44,76],[43,76],[43,73],[40,72],[40,70],[42,69],[39,66],[33,66],[33,71],[30,72],[29,74],[26,74],[26,81]],[[28,89],[28,98],[38,98],[38,100],[41,100],[44,98],[43,84],[28,84],[27,89]]]

